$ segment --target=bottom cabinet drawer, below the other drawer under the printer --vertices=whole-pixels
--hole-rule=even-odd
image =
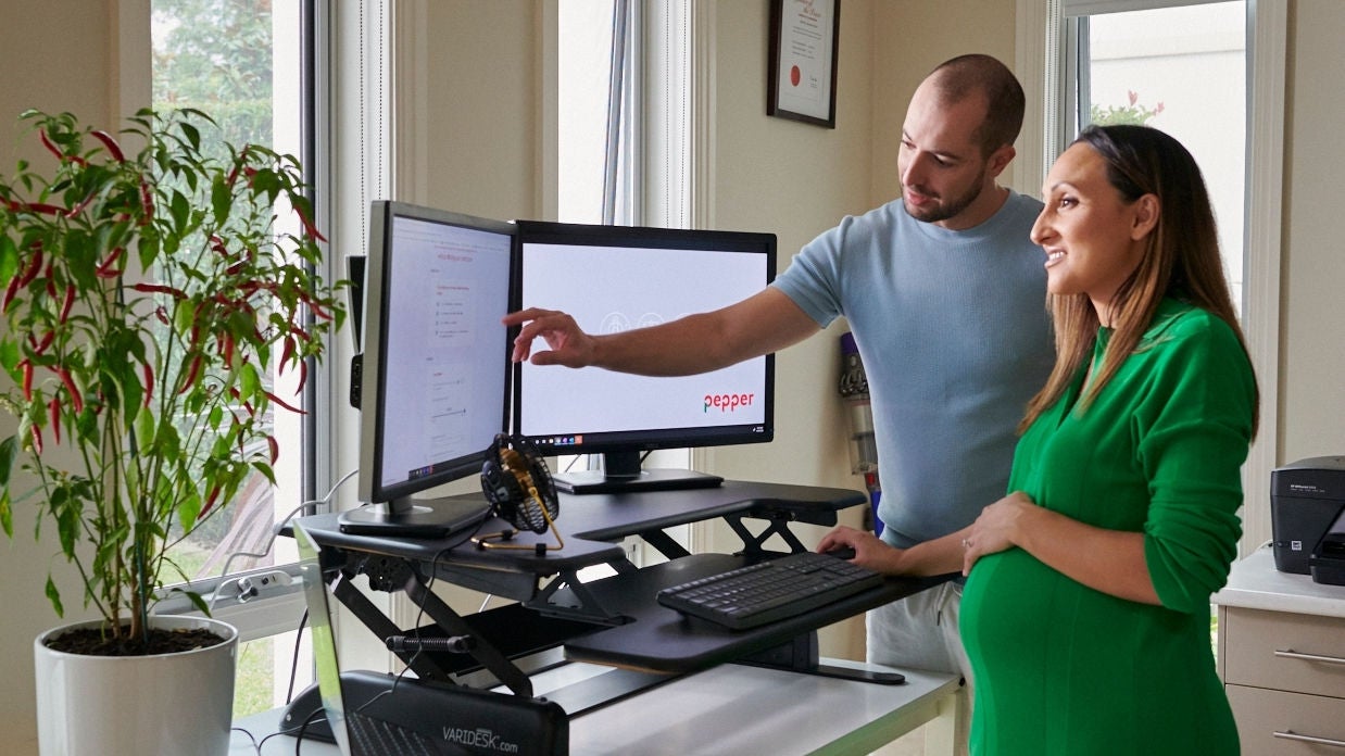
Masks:
[[[1229,685],[1243,756],[1345,756],[1345,700]]]

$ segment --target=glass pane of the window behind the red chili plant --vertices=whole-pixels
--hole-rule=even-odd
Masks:
[[[155,108],[198,108],[235,147],[262,144],[303,156],[304,7],[303,0],[152,0]],[[278,217],[292,219],[289,213]],[[291,400],[297,371],[266,378],[276,395],[301,404]],[[171,557],[191,580],[217,577],[226,566],[239,572],[296,560],[288,539],[272,543],[272,530],[311,498],[304,490],[305,424],[284,409],[272,409],[266,422],[280,444],[277,486],[254,472],[229,507],[174,546]],[[266,554],[243,556],[261,553]],[[234,554],[239,556],[231,558]],[[242,644],[235,697],[239,716],[282,702],[278,697],[288,690],[293,643],[284,635],[276,638]],[[308,663],[300,662],[300,674],[307,669]]]

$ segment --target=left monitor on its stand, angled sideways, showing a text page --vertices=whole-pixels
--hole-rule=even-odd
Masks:
[[[477,476],[508,432],[514,226],[413,204],[370,209],[364,264],[359,496],[347,533],[447,535],[484,495],[413,499]]]

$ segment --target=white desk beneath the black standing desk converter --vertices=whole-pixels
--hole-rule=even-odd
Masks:
[[[870,667],[827,659],[830,665]],[[538,695],[605,667],[570,665],[533,678]],[[868,753],[924,725],[948,730],[952,741],[958,678],[907,671],[904,685],[876,685],[783,670],[721,665],[687,675],[570,720],[576,756],[685,756],[772,753]],[[239,720],[257,740],[274,732],[280,712]],[[230,756],[253,755],[234,733]],[[286,736],[266,741],[264,755],[295,753]],[[304,756],[338,756],[334,745],[305,743]]]

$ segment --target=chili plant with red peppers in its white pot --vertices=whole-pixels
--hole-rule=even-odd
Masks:
[[[303,383],[340,327],[343,284],[315,273],[324,239],[293,157],[211,139],[211,118],[190,109],[141,110],[116,136],[69,113],[30,110],[24,121],[50,157],[0,176],[0,369],[12,379],[0,404],[17,420],[0,441],[0,525],[12,537],[15,507],[32,507],[38,535],[55,531],[83,605],[101,615],[35,644],[39,667],[54,665],[38,670],[39,740],[44,753],[222,753],[237,632],[217,623],[219,638],[200,639],[159,627],[151,609],[164,585],[187,578],[168,546],[218,515],[250,474],[273,479],[277,444],[264,417],[293,406],[266,370],[297,371]],[[291,217],[293,230],[280,229]],[[62,616],[50,574],[46,592]],[[70,673],[79,655],[121,669],[211,644],[227,671],[132,673],[106,678],[129,687],[101,691],[85,675],[102,673]],[[58,660],[44,662],[48,652]],[[227,678],[227,691],[198,698],[182,687],[190,679],[175,679],[192,677]],[[188,706],[223,697],[225,709],[175,717],[148,701],[160,682]],[[125,721],[129,708],[152,710],[152,722]],[[121,721],[73,733],[98,713]],[[174,721],[213,743],[184,749],[137,733]]]

